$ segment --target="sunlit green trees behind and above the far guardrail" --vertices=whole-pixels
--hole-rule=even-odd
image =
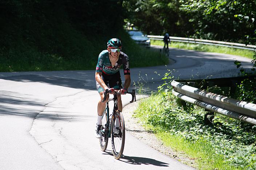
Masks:
[[[147,34],[255,44],[255,0],[132,0],[129,21]]]

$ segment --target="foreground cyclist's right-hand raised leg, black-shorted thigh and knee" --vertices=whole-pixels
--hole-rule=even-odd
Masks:
[[[111,76],[111,78],[109,80],[109,87],[114,88],[114,89],[122,89],[123,88],[119,71]],[[118,108],[118,110],[122,111],[123,105],[122,105],[121,95],[117,94],[116,96],[117,96],[117,108]]]

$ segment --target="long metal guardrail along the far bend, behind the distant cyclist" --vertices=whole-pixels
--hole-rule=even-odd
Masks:
[[[163,40],[164,36],[148,35],[148,38],[153,40]],[[169,38],[171,41],[176,41],[176,42],[197,43],[197,44],[232,47],[232,48],[241,48],[245,50],[256,50],[256,46],[240,44],[240,43],[212,41],[207,39],[196,39],[196,38],[183,38],[183,37],[169,37]]]

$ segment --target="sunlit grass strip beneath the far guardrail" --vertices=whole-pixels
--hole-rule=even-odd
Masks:
[[[151,40],[151,44],[164,46],[164,42],[159,40]],[[196,50],[196,51],[203,51],[203,52],[216,52],[216,53],[222,53],[222,54],[238,55],[238,56],[243,56],[250,59],[252,59],[254,55],[254,52],[252,50],[243,50],[239,48],[222,47],[222,46],[211,46],[206,44],[171,42],[171,47],[182,48],[186,50]]]

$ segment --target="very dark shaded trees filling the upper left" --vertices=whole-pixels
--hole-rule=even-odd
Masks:
[[[24,47],[29,46],[43,53],[59,54],[64,58],[71,58],[73,54],[76,54],[76,57],[81,56],[86,48],[85,44],[74,45],[79,44],[80,37],[86,36],[93,39],[92,42],[97,42],[95,39],[100,35],[109,38],[123,28],[125,13],[122,10],[122,2],[0,1],[0,53],[9,53],[11,48],[24,50]],[[79,34],[82,35],[77,37]],[[94,44],[92,48],[96,46],[99,44]]]

